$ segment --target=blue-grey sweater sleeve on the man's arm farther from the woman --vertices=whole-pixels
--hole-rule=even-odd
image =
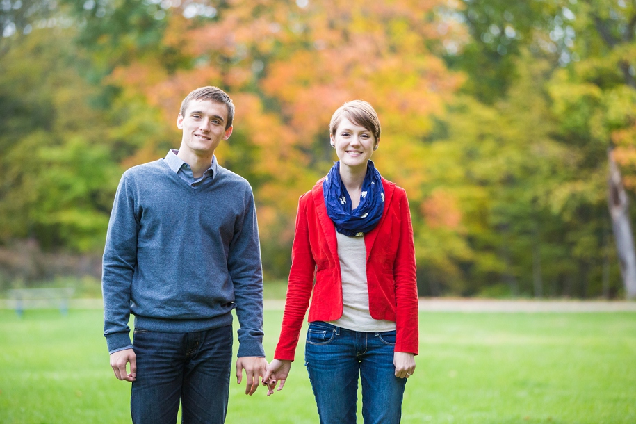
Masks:
[[[102,262],[101,291],[104,297],[104,336],[108,352],[132,348],[130,339],[131,284],[137,264],[138,218],[129,174],[120,180],[108,222]]]

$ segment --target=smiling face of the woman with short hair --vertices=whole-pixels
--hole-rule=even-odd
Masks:
[[[371,131],[343,117],[331,139],[341,166],[366,169],[366,163],[376,145]]]

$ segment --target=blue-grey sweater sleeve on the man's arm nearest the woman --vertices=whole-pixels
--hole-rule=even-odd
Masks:
[[[245,211],[236,220],[227,268],[234,284],[234,304],[240,329],[238,357],[265,357],[263,350],[263,270],[254,195],[249,188]]]

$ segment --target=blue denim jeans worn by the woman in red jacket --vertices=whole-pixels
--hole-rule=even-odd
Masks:
[[[321,424],[355,423],[358,375],[365,424],[399,423],[407,382],[395,375],[396,332],[354,332],[309,323],[305,365]]]

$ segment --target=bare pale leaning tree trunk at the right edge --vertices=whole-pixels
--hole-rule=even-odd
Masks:
[[[636,254],[634,237],[629,220],[627,193],[623,188],[621,171],[614,161],[612,149],[608,149],[608,206],[612,216],[612,230],[628,299],[636,299]]]

